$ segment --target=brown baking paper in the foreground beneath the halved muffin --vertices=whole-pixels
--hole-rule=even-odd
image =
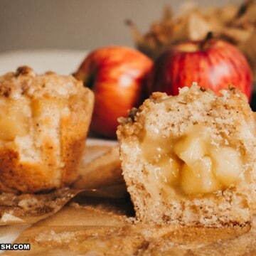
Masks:
[[[121,199],[120,199],[121,200]],[[55,215],[21,233],[15,243],[30,251],[4,255],[253,255],[252,226],[228,228],[158,227],[134,223],[129,198],[117,203],[73,200]]]

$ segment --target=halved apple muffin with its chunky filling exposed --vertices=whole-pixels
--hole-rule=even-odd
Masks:
[[[119,118],[122,172],[143,223],[245,225],[256,210],[253,112],[235,87],[154,92]]]

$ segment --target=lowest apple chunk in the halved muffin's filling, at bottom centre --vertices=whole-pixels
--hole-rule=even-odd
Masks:
[[[181,188],[186,194],[210,193],[218,191],[220,183],[212,173],[212,161],[204,156],[194,162],[193,166],[183,165]]]

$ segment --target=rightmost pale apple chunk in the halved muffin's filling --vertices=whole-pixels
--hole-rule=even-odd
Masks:
[[[224,186],[237,183],[242,171],[240,153],[230,146],[215,147],[211,150],[213,170]]]

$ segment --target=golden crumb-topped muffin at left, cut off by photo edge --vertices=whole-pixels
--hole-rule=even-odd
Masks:
[[[72,183],[94,95],[71,75],[29,67],[0,77],[0,192],[36,193]]]

